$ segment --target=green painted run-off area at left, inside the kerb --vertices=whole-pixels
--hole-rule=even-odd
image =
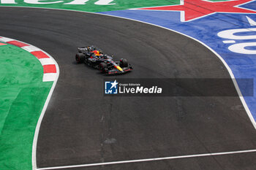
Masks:
[[[42,82],[42,65],[29,52],[0,46],[0,169],[31,169],[37,120],[53,82]]]

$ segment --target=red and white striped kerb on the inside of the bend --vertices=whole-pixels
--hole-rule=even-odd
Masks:
[[[48,55],[48,53],[45,53],[43,50],[34,47],[33,45],[29,45],[25,42],[20,42],[15,39],[6,38],[3,36],[0,36],[0,42],[6,42],[7,44],[15,45],[34,55],[42,64],[43,82],[55,81],[58,78],[59,70],[57,69],[56,61],[54,61],[54,59]]]

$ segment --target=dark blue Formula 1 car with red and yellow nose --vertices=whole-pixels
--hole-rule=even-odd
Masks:
[[[78,47],[75,60],[77,63],[86,63],[106,74],[123,74],[132,71],[132,66],[127,59],[121,58],[120,61],[113,61],[113,56],[103,54],[94,46]]]

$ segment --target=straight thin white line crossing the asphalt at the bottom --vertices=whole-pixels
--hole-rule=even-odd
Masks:
[[[170,157],[163,157],[163,158],[148,158],[148,159],[138,159],[138,160],[129,160],[129,161],[89,163],[89,164],[73,165],[73,166],[56,166],[56,167],[48,167],[48,168],[38,168],[37,170],[70,169],[70,168],[79,168],[79,167],[88,167],[88,166],[105,166],[105,165],[113,165],[113,164],[121,164],[121,163],[138,163],[138,162],[162,161],[162,160],[172,160],[172,159],[182,159],[182,158],[197,158],[197,157],[217,156],[217,155],[232,155],[232,154],[247,153],[247,152],[256,152],[256,150],[239,150],[239,151],[232,151],[232,152],[204,153],[204,154],[197,154],[197,155],[180,155],[180,156],[170,156]]]

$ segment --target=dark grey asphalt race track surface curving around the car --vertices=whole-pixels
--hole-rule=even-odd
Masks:
[[[0,23],[2,36],[40,47],[59,63],[39,131],[39,168],[256,149],[255,128],[238,97],[105,97],[105,76],[74,62],[77,47],[97,45],[135,68],[113,79],[230,77],[217,56],[186,36],[50,9],[1,7]],[[255,159],[251,152],[79,169],[249,170]]]

